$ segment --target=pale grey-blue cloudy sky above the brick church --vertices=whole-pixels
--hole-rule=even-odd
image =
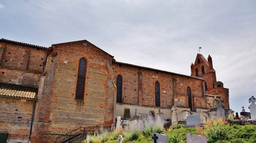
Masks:
[[[88,40],[116,61],[190,75],[210,54],[234,111],[256,96],[256,1],[0,0],[0,38],[44,47]]]

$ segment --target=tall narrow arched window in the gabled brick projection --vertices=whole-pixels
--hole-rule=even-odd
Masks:
[[[75,99],[82,99],[85,93],[85,74],[86,74],[86,59],[82,58],[79,61],[78,80],[76,83]]]

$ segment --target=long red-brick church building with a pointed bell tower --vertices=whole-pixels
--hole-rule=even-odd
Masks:
[[[182,68],[182,67],[181,67]],[[52,143],[80,127],[115,126],[116,117],[161,110],[208,116],[214,95],[229,108],[210,55],[191,75],[118,62],[87,40],[41,47],[0,39],[0,133],[11,143]],[[160,114],[160,113],[159,113]]]

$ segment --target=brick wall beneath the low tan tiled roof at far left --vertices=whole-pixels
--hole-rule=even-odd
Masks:
[[[9,132],[8,141],[28,142],[33,101],[0,97],[0,132]]]

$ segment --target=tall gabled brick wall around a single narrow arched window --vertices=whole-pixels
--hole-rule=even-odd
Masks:
[[[60,134],[79,127],[110,126],[115,100],[113,57],[86,40],[52,48],[39,86],[41,102],[36,107],[33,140],[55,142]],[[75,99],[81,58],[87,60],[83,100]],[[40,131],[41,126],[46,132]]]

